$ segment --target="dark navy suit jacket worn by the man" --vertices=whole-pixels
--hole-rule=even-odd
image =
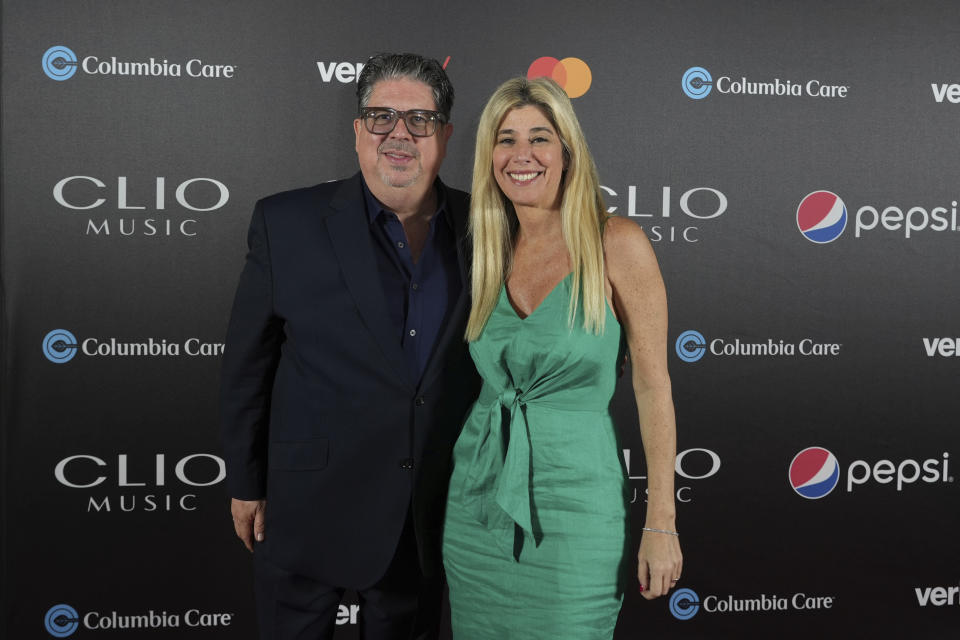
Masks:
[[[467,283],[469,196],[437,184]],[[450,454],[478,391],[466,286],[414,380],[372,242],[359,173],[259,201],[221,383],[229,490],[267,499],[257,553],[347,588],[382,577],[411,505],[422,569],[439,571]]]

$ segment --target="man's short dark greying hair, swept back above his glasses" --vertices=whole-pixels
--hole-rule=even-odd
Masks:
[[[357,109],[367,106],[373,87],[381,80],[410,78],[419,80],[433,90],[437,111],[450,121],[453,109],[453,85],[447,72],[433,58],[424,58],[415,53],[378,53],[363,66],[357,78]],[[373,105],[375,107],[387,105]]]

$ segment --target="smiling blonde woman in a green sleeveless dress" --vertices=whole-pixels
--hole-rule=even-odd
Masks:
[[[667,310],[653,250],[608,218],[570,100],[515,78],[477,131],[470,352],[484,380],[444,530],[454,636],[610,638],[628,568],[608,405],[626,337],[647,458],[644,597],[680,578]]]

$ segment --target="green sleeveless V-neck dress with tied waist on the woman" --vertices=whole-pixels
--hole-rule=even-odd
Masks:
[[[483,389],[453,450],[443,560],[455,640],[609,639],[627,500],[608,405],[620,326],[567,324],[568,275],[527,318],[500,297],[470,353]]]

